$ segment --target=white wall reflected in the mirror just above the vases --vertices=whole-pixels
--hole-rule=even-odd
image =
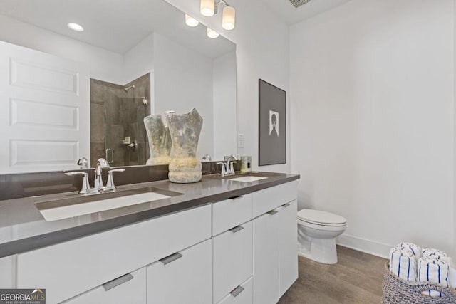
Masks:
[[[203,117],[197,159],[214,154],[212,105],[212,59],[154,33],[155,112],[190,112]]]

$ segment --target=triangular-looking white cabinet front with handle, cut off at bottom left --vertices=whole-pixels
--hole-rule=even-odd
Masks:
[[[145,267],[77,295],[65,304],[123,304],[146,302]]]

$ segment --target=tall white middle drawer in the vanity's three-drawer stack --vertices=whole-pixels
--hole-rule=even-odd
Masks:
[[[217,303],[252,276],[252,221],[215,236],[212,242]]]

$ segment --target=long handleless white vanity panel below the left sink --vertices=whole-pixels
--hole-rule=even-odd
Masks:
[[[18,288],[46,288],[48,302],[57,303],[209,239],[210,234],[207,205],[21,253]]]

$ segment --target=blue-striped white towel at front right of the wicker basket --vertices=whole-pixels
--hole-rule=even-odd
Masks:
[[[418,281],[437,283],[448,287],[448,272],[450,266],[444,261],[433,258],[420,258],[418,261]]]

